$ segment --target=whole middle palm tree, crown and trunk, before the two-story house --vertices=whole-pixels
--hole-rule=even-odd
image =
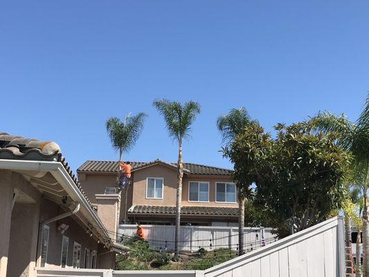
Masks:
[[[174,259],[179,259],[179,228],[181,224],[181,199],[182,199],[182,143],[183,139],[189,137],[192,123],[197,114],[200,113],[200,105],[195,101],[188,101],[184,105],[180,102],[170,100],[155,100],[154,107],[163,115],[169,135],[178,142],[178,163],[177,163],[177,200],[176,200],[176,226],[174,238]]]

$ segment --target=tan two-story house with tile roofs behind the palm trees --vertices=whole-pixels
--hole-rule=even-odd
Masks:
[[[120,221],[140,224],[174,224],[177,164],[165,161],[131,162],[132,184],[121,195]],[[232,170],[184,163],[181,224],[237,226],[237,191]],[[78,177],[91,202],[101,194],[115,193],[118,163],[86,161]],[[127,215],[125,208],[127,206]]]

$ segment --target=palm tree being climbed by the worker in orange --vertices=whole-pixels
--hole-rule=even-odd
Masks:
[[[111,141],[111,146],[119,152],[119,161],[122,161],[123,153],[129,152],[136,144],[142,130],[145,117],[144,113],[138,113],[131,116],[129,113],[125,116],[124,121],[120,121],[117,117],[107,119],[105,127]],[[119,182],[119,166],[117,168],[117,186]],[[127,222],[127,193],[129,186],[125,187],[125,223]]]

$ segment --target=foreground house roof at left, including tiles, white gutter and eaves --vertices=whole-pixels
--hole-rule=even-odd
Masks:
[[[80,203],[80,213],[98,227],[93,229],[96,236],[116,247],[57,143],[0,132],[0,169],[19,172],[55,202],[62,204],[62,197],[68,197]]]

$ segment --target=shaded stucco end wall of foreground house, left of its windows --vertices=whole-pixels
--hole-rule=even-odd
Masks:
[[[12,197],[19,192],[14,208]],[[23,176],[0,170],[0,276],[34,276],[41,194]]]

